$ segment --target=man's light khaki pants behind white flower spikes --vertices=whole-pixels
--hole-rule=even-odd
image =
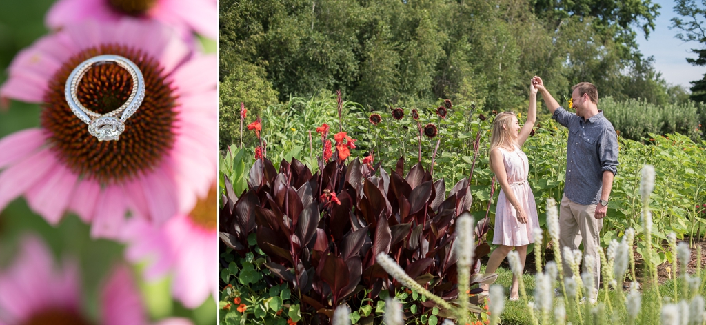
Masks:
[[[561,247],[569,247],[572,251],[578,249],[581,240],[583,239],[583,256],[592,255],[594,258],[593,278],[594,292],[593,299],[598,297],[598,283],[601,274],[601,258],[598,254],[598,249],[601,248],[599,234],[603,228],[603,219],[596,219],[596,205],[590,204],[584,206],[569,200],[566,195],[561,198],[559,206],[559,244]],[[563,248],[562,248],[563,254]],[[563,257],[563,256],[562,256]],[[583,270],[586,265],[584,263]],[[566,261],[563,263],[563,271],[565,277],[571,277],[573,272]],[[579,290],[581,290],[579,288]]]

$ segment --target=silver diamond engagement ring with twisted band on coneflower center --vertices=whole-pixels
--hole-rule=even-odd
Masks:
[[[117,110],[106,114],[98,114],[85,108],[78,101],[76,89],[83,75],[95,65],[114,63],[130,73],[133,89],[128,100]],[[66,79],[64,95],[71,112],[85,124],[88,124],[88,133],[98,138],[98,141],[118,140],[125,131],[125,121],[135,113],[145,99],[145,78],[133,61],[114,54],[99,55],[81,62],[71,71]]]

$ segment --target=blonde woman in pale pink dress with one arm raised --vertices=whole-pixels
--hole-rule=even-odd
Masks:
[[[520,254],[520,262],[524,268],[527,245],[534,242],[532,229],[539,228],[534,194],[527,183],[529,163],[527,155],[520,149],[530,136],[537,118],[537,88],[534,84],[530,84],[528,111],[527,121],[522,128],[513,112],[498,114],[493,121],[489,165],[500,183],[501,190],[496,206],[493,235],[493,244],[498,247],[490,255],[486,273],[494,273],[513,247]],[[510,300],[518,299],[517,287],[517,278],[513,276]],[[482,285],[481,288],[488,290],[487,285]]]

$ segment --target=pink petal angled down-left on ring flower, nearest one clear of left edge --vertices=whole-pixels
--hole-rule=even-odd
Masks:
[[[56,225],[66,211],[77,180],[78,175],[57,164],[46,179],[37,182],[25,195],[30,208],[50,224]]]

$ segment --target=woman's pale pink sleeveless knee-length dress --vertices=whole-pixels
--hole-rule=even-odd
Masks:
[[[530,163],[527,155],[520,148],[508,151],[498,147],[503,153],[505,173],[508,175],[510,189],[515,193],[515,199],[520,202],[527,213],[527,223],[517,221],[517,211],[510,204],[505,192],[501,189],[498,196],[498,205],[495,211],[495,234],[493,244],[507,246],[524,246],[534,242],[532,229],[539,228],[537,218],[537,205],[534,204],[534,194],[527,182],[530,172]]]

